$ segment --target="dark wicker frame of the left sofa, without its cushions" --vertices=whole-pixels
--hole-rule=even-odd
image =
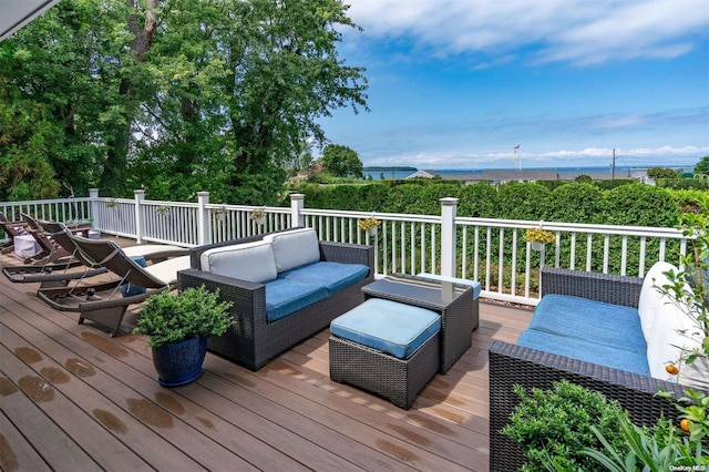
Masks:
[[[261,240],[258,235],[191,249],[192,269],[178,275],[177,288],[205,285],[220,290],[223,300],[234,301],[230,309],[237,324],[219,337],[209,338],[207,348],[250,370],[258,370],[271,358],[327,328],[330,321],[363,301],[361,288],[374,280],[374,253],[371,246],[319,242],[320,260],[360,264],[369,276],[337,294],[309,305],[285,318],[268,321],[266,286],[199,270],[204,252],[217,247]]]

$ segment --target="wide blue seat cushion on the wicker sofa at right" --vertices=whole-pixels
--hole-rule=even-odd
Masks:
[[[549,294],[536,306],[530,328],[647,355],[637,308]]]

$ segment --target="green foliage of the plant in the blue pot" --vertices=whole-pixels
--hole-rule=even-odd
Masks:
[[[141,309],[133,332],[150,336],[151,348],[201,336],[219,336],[235,321],[228,311],[234,304],[218,300],[219,290],[212,293],[204,286],[153,295]]]

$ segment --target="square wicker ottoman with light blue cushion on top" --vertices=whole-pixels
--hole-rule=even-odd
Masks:
[[[409,409],[439,370],[440,316],[371,298],[330,324],[330,378]]]

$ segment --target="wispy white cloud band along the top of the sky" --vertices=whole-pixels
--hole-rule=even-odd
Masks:
[[[525,62],[597,65],[669,59],[709,31],[706,0],[350,0],[370,40],[408,38],[417,53],[472,54],[485,66],[522,50]],[[360,38],[361,39],[361,38]],[[357,41],[357,38],[354,39]]]

